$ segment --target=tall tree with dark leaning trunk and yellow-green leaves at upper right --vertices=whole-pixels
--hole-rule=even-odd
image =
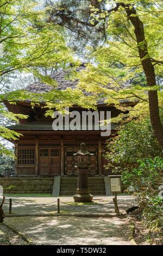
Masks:
[[[160,86],[156,81],[156,78],[161,76],[160,65],[163,64],[162,1],[67,0],[57,1],[56,4],[52,2],[48,9],[48,21],[67,27],[77,35],[78,41],[85,37],[92,40],[92,35],[103,34],[101,40],[98,39],[101,46],[97,49],[93,44],[92,60],[96,62],[96,66],[89,65],[88,69],[92,73],[86,73],[85,78],[82,75],[80,85],[87,90],[104,93],[105,96],[110,93],[109,98],[112,96],[114,100],[123,99],[124,95],[128,94],[128,99],[133,97],[140,102],[148,102],[153,130],[163,147],[163,127],[158,101]],[[91,32],[92,35],[89,36]],[[90,48],[90,41],[87,46]],[[111,79],[108,79],[108,83],[102,84],[104,72],[105,77]],[[146,82],[143,81],[143,76]],[[107,78],[103,78],[103,81],[104,79],[107,81]],[[92,87],[84,86],[85,82]],[[136,86],[124,86],[125,82]]]

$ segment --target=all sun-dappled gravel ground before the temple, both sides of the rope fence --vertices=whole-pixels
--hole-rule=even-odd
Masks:
[[[12,197],[13,214],[54,213],[57,198]],[[72,197],[60,197],[61,212],[72,213],[115,213],[112,197],[94,197],[92,203],[76,204]],[[133,204],[134,198],[118,196],[120,212],[124,213]],[[4,204],[9,212],[9,197]],[[130,245],[127,218],[106,217],[11,217],[4,223],[24,234],[35,245]],[[3,244],[26,244],[20,237],[0,224],[4,233]],[[2,236],[1,236],[2,237]]]

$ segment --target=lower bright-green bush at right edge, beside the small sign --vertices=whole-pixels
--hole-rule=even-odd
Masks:
[[[139,167],[122,172],[124,184],[134,192],[142,212],[142,221],[152,239],[163,235],[163,199],[158,196],[163,185],[163,160],[160,157],[137,161]],[[128,188],[128,189],[129,189]]]

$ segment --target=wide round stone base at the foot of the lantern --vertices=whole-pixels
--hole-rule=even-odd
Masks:
[[[74,194],[73,199],[74,202],[91,202],[93,196],[87,188],[77,188],[77,193]]]

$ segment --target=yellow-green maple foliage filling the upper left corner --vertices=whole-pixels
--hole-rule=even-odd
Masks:
[[[41,25],[41,26],[40,26]],[[39,1],[1,0],[0,1],[0,87],[8,83],[14,72],[29,72],[41,78],[45,83],[54,85],[48,76],[42,75],[40,68],[63,67],[73,62],[59,26],[46,23],[45,11],[39,8]],[[12,83],[11,83],[12,84]],[[13,93],[11,101],[23,97],[23,90]],[[1,96],[1,102],[4,97]],[[8,97],[5,97],[8,100]],[[26,99],[28,95],[26,93]],[[14,102],[12,102],[14,103]],[[0,103],[0,119],[18,121],[24,115],[9,113]],[[16,139],[18,134],[1,124],[0,136]],[[0,153],[9,153],[0,144]]]

